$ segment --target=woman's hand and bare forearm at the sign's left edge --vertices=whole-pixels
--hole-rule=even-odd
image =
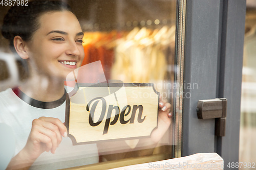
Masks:
[[[67,128],[59,119],[53,117],[34,119],[25,147],[12,158],[7,169],[29,169],[41,153],[51,151],[54,154],[62,136],[67,136]]]

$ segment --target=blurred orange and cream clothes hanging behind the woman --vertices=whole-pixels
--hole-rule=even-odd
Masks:
[[[82,65],[100,60],[106,79],[127,82],[163,82],[172,67],[175,25],[160,29],[84,32]],[[174,50],[172,50],[174,51]],[[126,75],[126,76],[124,76]],[[158,89],[161,91],[161,89]]]

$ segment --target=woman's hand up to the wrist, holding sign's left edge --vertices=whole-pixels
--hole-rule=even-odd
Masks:
[[[43,152],[55,153],[63,137],[67,137],[67,128],[53,117],[39,117],[32,122],[32,129],[24,149],[30,160],[35,160]]]

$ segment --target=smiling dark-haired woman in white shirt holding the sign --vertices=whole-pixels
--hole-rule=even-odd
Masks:
[[[71,9],[58,1],[12,7],[2,34],[12,51],[27,60],[30,71],[24,84],[0,93],[0,122],[10,125],[16,137],[8,168],[56,169],[98,162],[96,144],[73,146],[62,138],[67,137],[64,82],[84,57],[83,33]],[[170,125],[170,104],[160,101],[160,108],[164,124],[148,143],[159,141]]]

